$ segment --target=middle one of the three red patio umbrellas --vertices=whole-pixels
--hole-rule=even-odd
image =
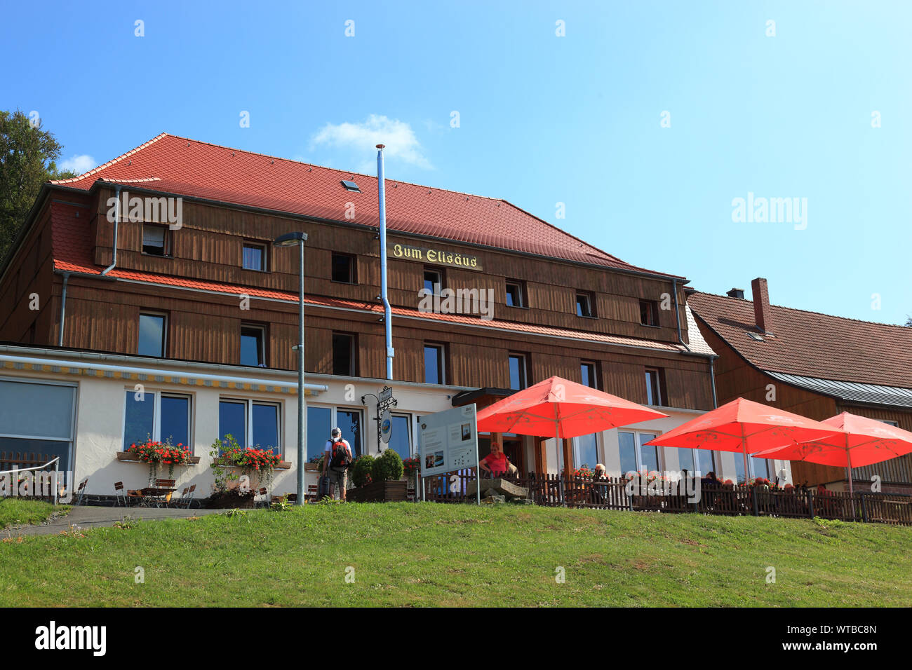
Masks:
[[[825,438],[837,429],[819,421],[739,397],[711,412],[693,418],[647,442],[658,447],[683,447],[734,451],[744,456],[794,442]]]

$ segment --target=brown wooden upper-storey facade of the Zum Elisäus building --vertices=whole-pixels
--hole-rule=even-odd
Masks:
[[[142,194],[141,191],[130,191]],[[57,345],[63,275],[54,271],[67,245],[83,244],[96,266],[112,259],[113,224],[107,219],[107,201],[113,191],[97,188],[89,194],[51,189],[34,224],[0,280],[0,340],[31,345]],[[51,218],[66,214],[78,222],[65,235],[57,230],[52,252]],[[307,232],[306,293],[378,304],[380,264],[374,228],[347,222],[322,222],[251,211],[208,201],[183,202],[183,225],[169,232],[171,257],[142,252],[142,224],[121,222],[117,268],[182,280],[274,289],[296,294],[296,249],[272,247],[279,234]],[[81,236],[81,237],[80,237]],[[712,387],[706,356],[681,354],[661,348],[689,341],[685,296],[681,281],[671,277],[630,273],[586,266],[505,250],[474,247],[446,240],[430,240],[390,232],[391,242],[445,248],[476,256],[482,272],[444,267],[444,285],[451,289],[487,289],[494,294],[494,318],[518,324],[549,326],[567,331],[620,335],[647,341],[643,346],[621,346],[493,329],[477,324],[453,324],[413,317],[393,317],[395,377],[423,382],[425,343],[446,345],[446,382],[461,387],[509,387],[508,356],[523,353],[532,384],[547,376],[578,380],[582,361],[597,366],[603,390],[636,402],[646,402],[645,369],[658,368],[664,378],[664,404],[669,407],[710,409]],[[82,242],[79,242],[79,240]],[[74,242],[75,240],[75,242]],[[262,242],[267,271],[242,268],[245,241]],[[356,283],[332,281],[331,257],[346,253],[355,258]],[[416,309],[425,264],[389,260],[389,299],[396,307]],[[526,307],[506,305],[505,283],[518,280],[525,289]],[[595,317],[577,316],[577,290],[594,296]],[[640,324],[639,301],[657,303],[667,294],[678,311],[658,309],[658,325]],[[30,309],[28,296],[37,294],[38,308]],[[668,300],[666,301],[668,302]],[[35,305],[31,305],[35,306]],[[136,354],[140,311],[167,314],[166,357],[217,364],[240,362],[242,324],[263,325],[266,365],[295,369],[297,305],[252,297],[242,310],[236,295],[188,287],[163,287],[144,282],[110,280],[98,275],[71,273],[67,280],[66,316],[62,345],[75,349]],[[306,371],[333,372],[332,334],[357,337],[356,376],[385,376],[384,331],[376,312],[363,309],[306,309]],[[649,343],[657,343],[653,348]]]

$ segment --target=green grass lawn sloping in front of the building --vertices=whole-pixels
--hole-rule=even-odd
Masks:
[[[125,525],[0,542],[0,605],[912,605],[912,529],[873,523],[348,503]]]

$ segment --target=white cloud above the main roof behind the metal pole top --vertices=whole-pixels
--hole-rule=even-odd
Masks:
[[[430,160],[421,152],[421,144],[411,126],[399,119],[378,114],[371,114],[363,123],[327,123],[311,141],[315,145],[354,149],[358,156],[365,153],[373,156],[376,145],[385,144],[387,158],[399,159],[425,170],[433,169]],[[369,160],[361,162],[362,166],[370,164]]]

